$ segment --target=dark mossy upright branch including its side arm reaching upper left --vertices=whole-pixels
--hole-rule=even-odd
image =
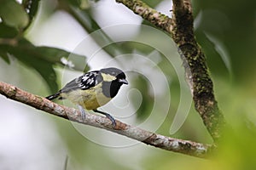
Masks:
[[[141,15],[154,26],[170,33],[183,59],[195,110],[199,112],[212,139],[218,141],[225,125],[224,116],[219,111],[213,94],[212,79],[208,73],[205,54],[195,40],[190,0],[172,0],[172,19],[148,7],[141,0],[116,0],[116,2],[123,3],[135,14]]]

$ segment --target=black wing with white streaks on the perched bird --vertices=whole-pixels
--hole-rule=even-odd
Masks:
[[[83,76],[73,79],[73,81],[68,82],[64,88],[60,91],[61,93],[68,93],[72,90],[82,89],[86,90],[95,87],[96,84],[102,82],[100,78],[99,71],[90,71],[85,73]]]

